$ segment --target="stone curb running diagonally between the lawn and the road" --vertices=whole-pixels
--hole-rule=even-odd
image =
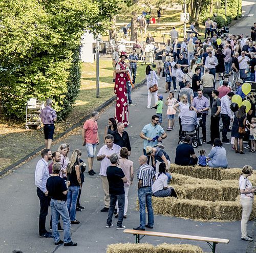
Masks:
[[[144,79],[141,83],[135,84],[134,89],[140,88],[141,86],[143,86],[146,83],[146,79]],[[103,104],[101,104],[99,107],[97,107],[95,109],[95,111],[101,111],[102,109],[104,109],[106,106],[110,105],[113,101],[115,101],[116,96],[113,96],[112,98],[110,98],[109,100],[105,101]],[[81,119],[79,122],[77,122],[76,124],[74,124],[72,127],[68,128],[66,131],[60,133],[58,135],[58,137],[56,137],[56,140],[58,140],[60,137],[63,137],[65,134],[69,133],[70,131],[74,130],[76,127],[80,126],[84,121],[88,120],[90,118],[90,115],[87,115],[86,117],[84,117],[83,119]],[[17,162],[15,162],[14,164],[9,165],[7,168],[5,168],[4,170],[0,171],[0,176],[3,176],[4,174],[6,174],[8,171],[14,169],[16,166],[18,166],[19,164],[25,162],[25,160],[27,160],[29,157],[35,155],[37,152],[41,151],[42,149],[44,149],[45,145],[40,146],[39,148],[37,148],[36,150],[34,150],[33,152],[29,153],[28,155],[26,155],[25,157],[19,159]]]

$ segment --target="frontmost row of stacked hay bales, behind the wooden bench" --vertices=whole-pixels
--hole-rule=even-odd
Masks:
[[[256,215],[256,200],[250,216]],[[173,197],[152,197],[155,214],[200,220],[241,220],[242,206],[239,197],[236,201],[204,201],[197,199],[176,199]]]

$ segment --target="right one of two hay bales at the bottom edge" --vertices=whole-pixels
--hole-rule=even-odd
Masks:
[[[156,247],[156,253],[203,253],[203,250],[190,244],[167,244],[163,243]]]

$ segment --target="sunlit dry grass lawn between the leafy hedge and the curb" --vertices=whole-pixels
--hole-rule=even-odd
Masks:
[[[96,62],[82,64],[81,90],[66,121],[55,125],[55,137],[90,114],[96,107],[114,96],[113,67],[110,58],[100,58],[100,97],[96,98]],[[145,78],[145,65],[138,64],[136,83]],[[113,112],[114,113],[114,112]],[[44,144],[44,132],[25,122],[0,119],[0,171]]]

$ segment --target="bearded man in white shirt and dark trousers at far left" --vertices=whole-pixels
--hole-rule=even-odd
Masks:
[[[40,200],[40,214],[39,214],[39,237],[52,238],[52,233],[46,230],[46,216],[50,198],[46,189],[47,179],[50,177],[48,170],[48,162],[52,160],[52,151],[50,149],[43,149],[41,152],[42,158],[37,162],[35,168],[35,185],[36,193]]]

